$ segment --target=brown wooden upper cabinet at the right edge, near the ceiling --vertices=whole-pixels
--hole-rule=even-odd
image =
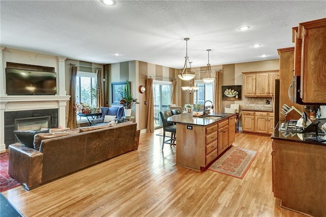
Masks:
[[[292,29],[294,75],[300,75],[304,103],[326,103],[326,18],[303,22]]]

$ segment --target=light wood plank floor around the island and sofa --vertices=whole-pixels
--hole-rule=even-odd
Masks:
[[[175,166],[175,147],[141,134],[137,151],[28,192],[3,195],[24,216],[303,216],[280,208],[271,191],[271,140],[236,133],[234,146],[257,150],[243,179]]]

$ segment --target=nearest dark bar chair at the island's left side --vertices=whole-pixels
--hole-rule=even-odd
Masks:
[[[176,125],[172,122],[168,122],[167,119],[172,116],[171,110],[160,111],[159,115],[161,117],[162,125],[163,125],[163,140],[162,140],[162,150],[164,148],[164,144],[176,145]],[[166,132],[171,132],[171,139],[165,140]]]

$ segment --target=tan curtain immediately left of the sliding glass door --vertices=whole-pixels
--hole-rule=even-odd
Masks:
[[[146,79],[146,101],[147,132],[154,132],[153,78]]]

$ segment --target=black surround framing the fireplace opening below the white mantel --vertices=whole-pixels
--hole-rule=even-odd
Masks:
[[[5,144],[6,149],[10,144],[15,143],[15,119],[50,116],[50,128],[58,127],[58,108],[46,110],[28,110],[5,112]]]

